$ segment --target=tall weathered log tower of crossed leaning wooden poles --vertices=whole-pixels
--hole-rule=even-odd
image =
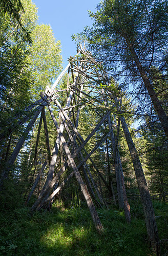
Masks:
[[[62,90],[56,89],[56,87],[67,71],[67,89],[63,90],[67,92],[67,103],[65,106],[61,106],[59,102],[59,94],[60,92],[62,93]],[[69,83],[70,72],[73,80],[72,84]],[[108,104],[108,102],[110,102],[110,105]],[[56,105],[58,109],[57,113],[55,113],[55,110],[53,113],[51,103]],[[102,115],[100,114],[100,112],[97,113],[97,120],[99,120],[99,122],[84,140],[78,131],[79,114],[83,108],[88,108],[89,106],[94,109],[95,113],[97,113],[96,109],[97,107],[99,107],[99,109],[101,109]],[[53,123],[57,130],[57,137],[52,153],[50,152],[49,133],[47,129],[45,107],[49,108]],[[102,193],[101,191],[99,191],[99,188],[97,187],[97,184],[93,179],[92,173],[90,172],[90,169],[87,165],[87,160],[90,160],[90,162],[92,163],[92,166],[98,174],[98,178],[102,180],[104,186],[106,186],[107,190],[111,194],[114,204],[116,204],[116,195],[114,194],[112,181],[109,180],[109,182],[107,182],[106,179],[103,178],[102,173],[99,171],[98,167],[96,166],[91,157],[91,155],[95,152],[96,149],[98,149],[98,147],[102,143],[107,143],[107,140],[110,139],[115,167],[118,206],[119,209],[124,209],[125,219],[127,220],[127,222],[131,222],[130,205],[128,203],[127,194],[125,191],[122,164],[118,150],[118,137],[121,123],[135,170],[149,240],[152,243],[152,247],[155,251],[157,251],[157,254],[159,255],[159,240],[157,236],[155,214],[150,198],[149,189],[146,184],[141,163],[139,161],[139,157],[133,143],[131,134],[129,132],[127,123],[125,122],[125,119],[121,112],[121,99],[117,97],[116,90],[113,91],[111,81],[108,78],[107,72],[104,71],[102,63],[95,61],[91,52],[89,52],[85,47],[82,47],[80,44],[77,54],[74,57],[70,56],[68,66],[58,76],[53,86],[51,88],[47,86],[46,90],[40,93],[40,100],[36,101],[34,104],[31,104],[25,109],[25,111],[26,113],[33,113],[33,117],[31,120],[30,114],[25,114],[25,116],[23,117],[22,113],[20,113],[20,115],[17,115],[19,120],[17,124],[9,127],[8,133],[0,134],[0,140],[3,140],[6,136],[9,137],[17,126],[24,125],[28,120],[30,120],[24,131],[24,134],[18,140],[18,143],[16,144],[13,153],[9,157],[8,163],[6,165],[7,167],[4,168],[4,171],[2,172],[1,186],[3,184],[3,180],[8,177],[12,165],[14,164],[14,161],[25,142],[26,136],[31,131],[31,128],[33,127],[38,115],[40,114],[34,159],[36,159],[37,156],[39,134],[42,122],[44,123],[45,128],[48,159],[46,161],[44,160],[43,166],[41,167],[41,170],[35,179],[35,182],[27,196],[25,204],[29,202],[31,195],[35,187],[37,186],[39,178],[43,173],[44,169],[46,168],[47,164],[49,165],[49,170],[45,185],[41,190],[36,202],[31,207],[31,212],[35,210],[40,210],[41,208],[51,208],[53,200],[57,196],[58,192],[64,187],[65,183],[72,179],[72,177],[75,175],[77,182],[81,188],[82,194],[86,199],[95,227],[98,231],[103,231],[103,226],[100,222],[95,205],[100,207],[104,206],[107,208],[108,205],[106,201],[102,198]],[[118,115],[118,124],[117,122],[115,124],[117,130],[116,135],[114,134],[114,126],[111,120],[111,116],[114,112]],[[56,121],[54,114],[56,114],[57,117],[59,116],[59,125]],[[20,116],[22,118],[20,118]],[[85,148],[86,144],[102,125],[104,125],[105,127],[102,138],[96,143],[96,145],[90,152],[87,152]],[[109,129],[107,128],[107,126],[109,127]],[[108,132],[106,133],[107,130]],[[68,139],[67,137],[65,139],[65,135],[68,135]],[[64,146],[64,151],[66,155],[65,161],[62,167],[56,171],[56,174],[54,174],[58,153],[60,153],[60,145],[61,148],[62,146]],[[72,167],[73,171],[69,175],[67,174],[66,180],[59,184],[60,176],[66,172],[69,166]],[[83,178],[85,179],[85,182],[83,182],[82,180],[81,173]]]

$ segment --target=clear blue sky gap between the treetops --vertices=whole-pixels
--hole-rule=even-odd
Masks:
[[[92,19],[88,10],[95,11],[99,0],[32,0],[38,7],[39,23],[50,24],[56,40],[60,40],[64,67],[67,58],[76,54],[76,45],[72,34],[77,34],[85,26],[91,26]]]

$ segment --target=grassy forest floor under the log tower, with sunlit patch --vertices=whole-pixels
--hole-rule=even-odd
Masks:
[[[146,239],[140,203],[133,203],[132,222],[124,212],[99,209],[104,233],[98,234],[90,212],[83,204],[68,208],[55,203],[51,212],[26,207],[0,213],[0,255],[153,255]],[[154,202],[161,255],[168,255],[168,205]]]

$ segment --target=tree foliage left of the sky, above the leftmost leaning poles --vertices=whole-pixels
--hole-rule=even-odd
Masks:
[[[13,1],[3,3],[4,8],[14,5]],[[13,21],[11,13],[0,10],[0,121],[36,99],[61,69],[60,42],[55,41],[51,27],[37,24],[37,8],[31,0],[20,3],[16,1],[15,7],[22,27],[31,32],[31,45],[23,39],[17,18]]]

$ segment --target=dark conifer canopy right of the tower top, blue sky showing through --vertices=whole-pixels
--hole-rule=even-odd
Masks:
[[[122,90],[133,88],[128,93],[137,111],[150,116],[154,106],[153,117],[156,113],[166,135],[167,8],[167,1],[102,1],[90,13],[92,27],[73,36],[86,42]]]

